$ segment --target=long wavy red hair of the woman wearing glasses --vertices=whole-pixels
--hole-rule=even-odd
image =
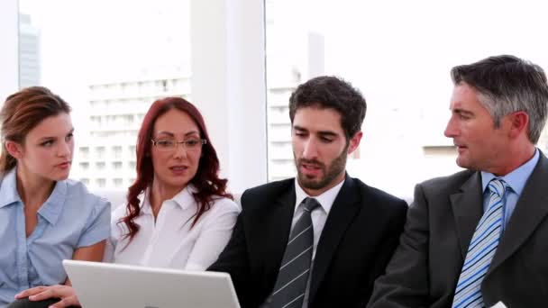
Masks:
[[[119,221],[119,223],[123,222],[127,226],[129,231],[125,234],[125,237],[130,240],[132,240],[137,231],[139,231],[139,225],[134,222],[134,219],[141,213],[141,200],[139,200],[139,195],[148,188],[151,188],[152,180],[154,178],[154,168],[150,155],[154,123],[160,115],[167,113],[171,109],[177,109],[187,113],[194,122],[196,122],[196,125],[200,130],[201,138],[207,140],[202,148],[202,156],[198,162],[196,176],[194,176],[189,183],[196,187],[197,191],[193,196],[198,205],[194,220],[190,227],[192,228],[200,217],[211,208],[214,196],[233,198],[233,195],[226,191],[227,179],[219,178],[219,159],[217,158],[217,153],[209,139],[207,130],[205,129],[205,122],[202,114],[193,104],[190,104],[183,98],[166,97],[159,99],[152,103],[151,108],[142,120],[141,129],[137,136],[137,146],[135,147],[137,155],[137,177],[132,186],[128,188],[126,205],[127,215]]]

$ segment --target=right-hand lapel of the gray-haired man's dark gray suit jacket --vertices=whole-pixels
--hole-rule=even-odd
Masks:
[[[488,275],[524,244],[548,214],[546,183],[548,183],[548,159],[541,152],[539,161],[527,180],[522,195],[517,200],[516,209],[500,240]]]

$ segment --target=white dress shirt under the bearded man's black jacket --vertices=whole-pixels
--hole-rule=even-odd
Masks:
[[[295,227],[295,224],[297,223],[298,219],[303,214],[304,206],[305,204],[302,204],[303,200],[305,200],[306,197],[315,198],[315,200],[320,204],[317,208],[315,208],[312,213],[310,213],[310,218],[312,219],[312,228],[314,231],[314,243],[312,247],[312,262],[310,264],[310,274],[308,275],[308,282],[306,283],[306,291],[305,291],[305,298],[303,299],[303,308],[308,307],[308,294],[310,291],[310,279],[312,277],[312,265],[314,264],[314,258],[315,258],[315,250],[318,247],[318,241],[320,240],[320,235],[322,234],[322,231],[324,230],[325,221],[327,220],[327,215],[329,215],[329,211],[331,211],[331,207],[333,206],[333,203],[335,201],[335,198],[337,195],[339,195],[339,192],[341,191],[342,184],[344,184],[344,180],[341,181],[341,183],[337,184],[336,186],[333,186],[329,190],[325,191],[322,195],[317,195],[315,197],[311,197],[310,195],[307,195],[306,192],[301,188],[301,186],[298,185],[297,178],[295,178],[295,195],[296,195],[296,203],[295,203],[295,213],[293,214],[293,221],[291,222],[291,230]]]

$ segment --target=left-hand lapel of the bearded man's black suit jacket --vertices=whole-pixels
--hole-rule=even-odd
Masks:
[[[262,256],[265,272],[272,279],[265,279],[265,282],[272,283],[273,287],[278,276],[279,266],[283,258],[286,246],[288,245],[289,231],[291,229],[291,221],[295,212],[295,186],[291,184],[288,190],[280,195],[273,203],[271,210],[268,213],[263,213],[263,224],[258,230],[265,231],[257,237],[260,239],[261,247],[264,248]],[[270,286],[269,286],[270,287]]]

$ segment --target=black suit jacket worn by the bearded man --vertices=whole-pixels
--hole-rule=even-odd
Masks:
[[[228,272],[242,308],[272,292],[295,211],[295,180],[245,191],[232,239],[209,269]],[[363,307],[403,231],[407,204],[346,177],[327,217],[312,269],[309,307]]]

